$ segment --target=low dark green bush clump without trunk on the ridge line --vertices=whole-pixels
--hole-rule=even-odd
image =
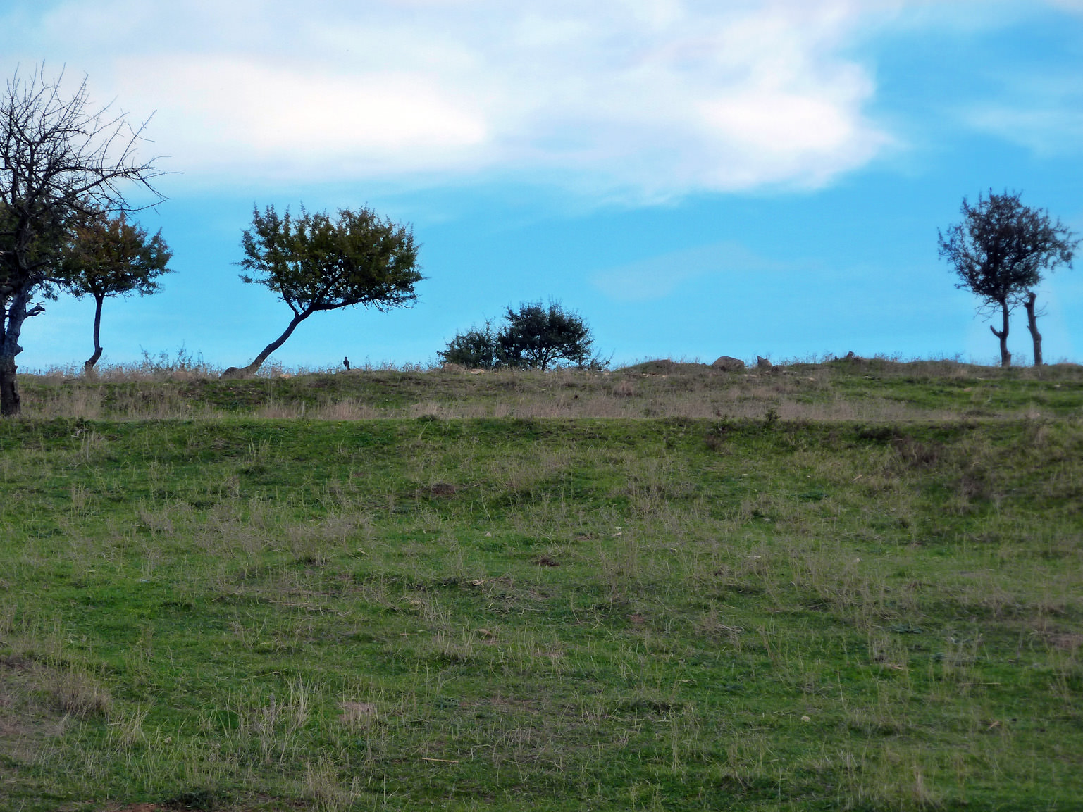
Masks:
[[[564,310],[560,302],[548,306],[523,303],[518,311],[509,306],[505,318],[507,323],[495,333],[486,322],[484,329],[471,328],[457,335],[441,357],[445,363],[482,369],[508,366],[545,370],[561,361],[579,367],[605,365],[590,355],[593,338],[586,320]]]

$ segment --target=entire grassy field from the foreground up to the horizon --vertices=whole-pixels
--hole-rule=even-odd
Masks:
[[[0,422],[4,810],[1083,810],[1080,367],[177,378]]]

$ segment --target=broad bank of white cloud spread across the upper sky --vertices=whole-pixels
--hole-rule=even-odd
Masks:
[[[815,186],[889,137],[871,0],[71,0],[27,41],[195,179],[501,173],[665,198]],[[18,36],[18,35],[15,35]]]

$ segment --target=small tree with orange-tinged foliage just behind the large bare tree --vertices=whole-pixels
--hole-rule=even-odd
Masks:
[[[123,212],[113,218],[93,212],[70,228],[61,261],[63,287],[77,299],[94,299],[94,354],[84,363],[88,372],[102,357],[105,298],[155,292],[156,279],[169,272],[166,265],[172,256],[160,231],[148,237],[146,230],[129,222]]]

